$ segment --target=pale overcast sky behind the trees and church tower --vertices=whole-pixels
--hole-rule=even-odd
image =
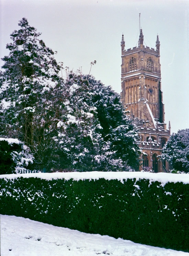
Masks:
[[[189,127],[189,1],[173,0],[0,0],[0,58],[10,33],[25,17],[42,32],[41,39],[57,51],[56,60],[76,71],[82,66],[97,80],[120,93],[121,35],[125,49],[136,46],[138,15],[144,42],[160,40],[165,121],[171,132]],[[0,61],[0,66],[3,62]]]

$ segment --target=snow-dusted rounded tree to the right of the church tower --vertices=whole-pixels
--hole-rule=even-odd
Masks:
[[[167,160],[177,171],[189,172],[189,129],[171,134],[160,160]]]

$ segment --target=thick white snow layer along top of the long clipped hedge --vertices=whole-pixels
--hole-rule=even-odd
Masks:
[[[41,178],[44,180],[57,180],[73,179],[78,180],[99,180],[104,178],[105,180],[119,180],[123,183],[123,180],[133,179],[136,180],[149,180],[150,184],[154,181],[161,182],[164,186],[168,182],[182,182],[189,184],[188,174],[174,174],[174,173],[148,173],[148,172],[69,172],[69,173],[28,173],[28,174],[4,174],[0,175],[0,178],[15,179],[15,178]]]

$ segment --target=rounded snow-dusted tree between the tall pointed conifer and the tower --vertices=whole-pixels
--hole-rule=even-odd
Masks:
[[[70,73],[57,123],[60,167],[76,171],[137,168],[137,130],[125,115],[120,96],[90,75]]]

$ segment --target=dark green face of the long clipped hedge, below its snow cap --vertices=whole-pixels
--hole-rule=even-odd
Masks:
[[[189,250],[189,184],[149,180],[0,179],[1,214]],[[139,186],[139,187],[138,187]]]

